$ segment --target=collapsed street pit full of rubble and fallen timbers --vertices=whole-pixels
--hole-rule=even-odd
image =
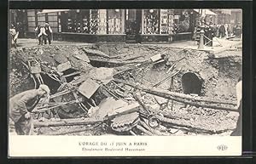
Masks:
[[[38,135],[230,135],[240,67],[239,46],[11,48],[9,97],[49,86],[49,103],[33,110]]]

